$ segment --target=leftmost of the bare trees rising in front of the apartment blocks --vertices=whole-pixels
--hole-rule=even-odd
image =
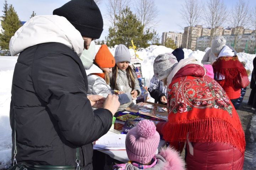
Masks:
[[[181,16],[183,21],[186,23],[186,25],[189,28],[188,30],[188,45],[187,48],[192,48],[192,41],[196,39],[196,37],[193,37],[193,34],[195,34],[194,26],[199,23],[201,18],[201,12],[202,12],[203,5],[198,0],[185,0],[185,5],[182,5],[181,8]],[[182,38],[183,39],[183,38]]]

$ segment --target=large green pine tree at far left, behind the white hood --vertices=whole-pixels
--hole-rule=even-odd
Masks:
[[[12,5],[9,6],[8,11],[6,12],[5,21],[1,21],[1,24],[4,31],[0,34],[0,46],[2,50],[9,50],[11,37],[15,34],[18,28],[21,27],[20,19]]]

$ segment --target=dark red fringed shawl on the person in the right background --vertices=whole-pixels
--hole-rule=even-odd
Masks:
[[[247,76],[246,69],[238,57],[219,57],[213,63],[213,72],[217,77],[222,77],[226,86],[234,86],[240,76]]]

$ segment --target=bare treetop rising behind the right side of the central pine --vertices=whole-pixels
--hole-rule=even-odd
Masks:
[[[158,16],[158,8],[155,5],[155,0],[136,0],[135,13],[145,29],[156,26],[155,18]]]

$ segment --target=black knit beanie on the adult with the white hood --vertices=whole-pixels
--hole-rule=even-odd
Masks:
[[[71,0],[53,11],[63,16],[82,36],[98,39],[103,31],[103,19],[94,0]]]

